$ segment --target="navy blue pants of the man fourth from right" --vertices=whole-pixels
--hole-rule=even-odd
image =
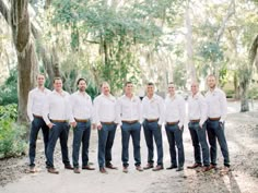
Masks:
[[[163,142],[162,142],[162,131],[155,122],[143,122],[144,136],[148,147],[148,162],[153,165],[153,137],[155,140],[156,149],[157,149],[157,165],[163,166]]]

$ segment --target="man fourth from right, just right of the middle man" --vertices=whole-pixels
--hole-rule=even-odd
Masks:
[[[148,83],[146,96],[142,99],[143,130],[148,146],[148,165],[143,169],[153,168],[153,137],[157,149],[157,165],[153,171],[163,169],[163,124],[164,102],[162,97],[154,94],[154,84]]]

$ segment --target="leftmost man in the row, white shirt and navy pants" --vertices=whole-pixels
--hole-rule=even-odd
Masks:
[[[48,144],[48,126],[43,120],[42,110],[43,104],[46,100],[47,96],[51,93],[49,89],[45,88],[45,76],[44,74],[37,75],[37,87],[32,89],[28,93],[27,99],[27,116],[31,121],[31,133],[30,133],[30,171],[35,172],[35,156],[36,156],[36,141],[37,134],[42,129],[44,146],[45,146],[45,156],[47,157],[47,144]]]

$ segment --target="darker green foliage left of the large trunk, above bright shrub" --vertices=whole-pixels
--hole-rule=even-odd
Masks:
[[[15,69],[0,86],[0,105],[8,104],[17,104],[17,71]]]

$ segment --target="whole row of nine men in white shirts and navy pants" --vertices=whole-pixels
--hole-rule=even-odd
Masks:
[[[62,162],[66,169],[80,173],[79,157],[82,144],[82,169],[94,170],[89,164],[89,143],[91,126],[97,129],[98,153],[97,161],[101,173],[108,169],[118,169],[112,164],[112,148],[117,128],[121,129],[121,161],[122,172],[128,172],[129,141],[132,138],[134,166],[138,171],[164,169],[162,128],[165,126],[169,144],[171,165],[166,169],[184,170],[185,153],[183,143],[184,123],[186,119],[185,99],[176,94],[174,83],[168,84],[165,99],[155,94],[154,84],[148,83],[146,96],[141,99],[133,94],[133,84],[125,84],[125,95],[116,99],[110,94],[109,84],[102,84],[102,94],[92,102],[86,94],[86,81],[78,80],[78,91],[70,95],[62,89],[62,80],[54,80],[54,91],[44,87],[45,76],[37,75],[37,87],[30,92],[27,114],[32,122],[30,135],[30,168],[35,172],[35,152],[38,131],[42,129],[46,167],[50,173],[59,173],[54,165],[55,146],[60,140]],[[191,95],[188,99],[188,128],[190,131],[195,164],[187,168],[200,168],[198,171],[209,171],[216,168],[216,141],[223,157],[223,171],[230,170],[228,149],[224,134],[226,117],[225,94],[216,87],[214,75],[208,76],[209,91],[203,97],[197,83],[191,84]],[[72,165],[69,159],[68,136],[70,126],[73,130]],[[141,167],[141,128],[148,147],[148,164]],[[210,144],[210,149],[207,142]],[[154,166],[154,143],[157,160]]]

